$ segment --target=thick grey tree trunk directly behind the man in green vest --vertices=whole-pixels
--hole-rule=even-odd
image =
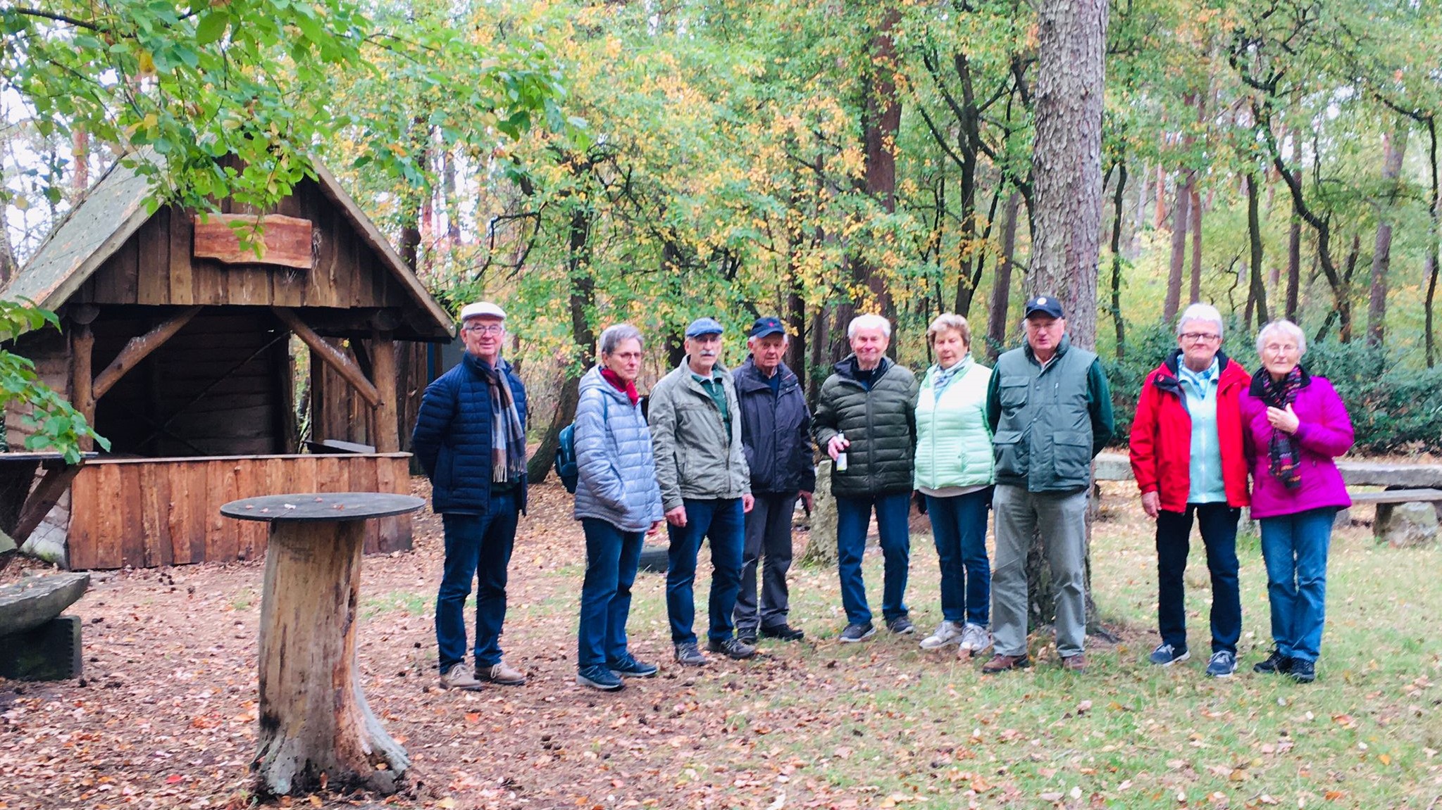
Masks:
[[[1096,280],[1102,232],[1102,108],[1106,79],[1106,0],[1051,0],[1040,4],[1037,46],[1035,218],[1030,285],[1061,298],[1067,334],[1083,349],[1096,346]],[[1184,221],[1185,222],[1185,221]],[[1087,522],[1087,628],[1099,630],[1092,600],[1090,520]],[[1027,556],[1030,613],[1056,614],[1041,538]]]

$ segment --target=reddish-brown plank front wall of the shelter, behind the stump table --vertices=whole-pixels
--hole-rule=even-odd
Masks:
[[[71,487],[72,569],[258,559],[268,523],[221,516],[258,494],[410,491],[410,454],[108,458]],[[366,522],[366,553],[411,548],[411,516]]]

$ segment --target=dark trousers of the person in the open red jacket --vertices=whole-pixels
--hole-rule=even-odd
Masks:
[[[1162,643],[1187,649],[1187,608],[1182,574],[1191,551],[1191,520],[1197,516],[1211,572],[1211,651],[1236,654],[1242,637],[1242,594],[1237,588],[1237,517],[1226,503],[1188,503],[1185,512],[1156,513],[1156,626]]]

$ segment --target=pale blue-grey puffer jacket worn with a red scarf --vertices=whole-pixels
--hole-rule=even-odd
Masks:
[[[575,519],[596,517],[623,532],[662,520],[650,428],[640,405],[606,382],[600,366],[581,378],[575,405]]]

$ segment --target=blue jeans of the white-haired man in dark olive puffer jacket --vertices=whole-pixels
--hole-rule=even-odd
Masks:
[[[871,509],[877,510],[877,532],[885,572],[881,578],[881,615],[887,621],[907,614],[906,578],[911,565],[911,529],[907,512],[911,493],[878,496],[842,496],[836,499],[836,569],[841,574],[841,605],[848,624],[871,621],[867,584],[861,578],[861,555],[867,551],[867,526]]]

